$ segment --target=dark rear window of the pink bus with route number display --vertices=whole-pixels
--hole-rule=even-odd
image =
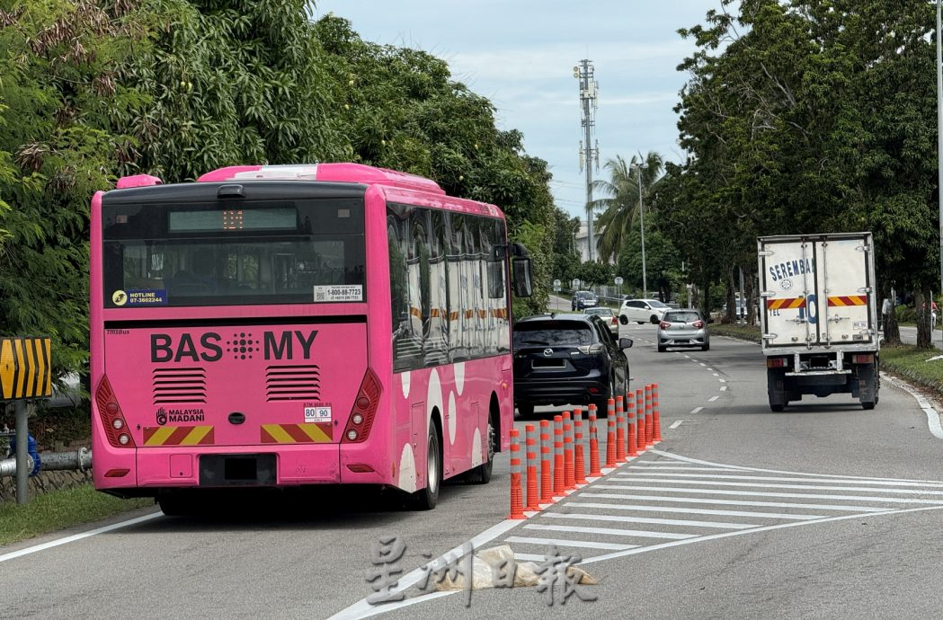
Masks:
[[[363,201],[103,204],[105,306],[364,302]]]

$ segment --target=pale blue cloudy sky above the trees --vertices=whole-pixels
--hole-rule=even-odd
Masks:
[[[681,162],[677,66],[695,50],[679,28],[704,24],[720,0],[315,0],[315,17],[350,20],[365,41],[422,49],[448,62],[453,79],[487,97],[499,129],[523,134],[528,155],[547,161],[554,200],[586,218],[579,168],[580,80],[591,61],[599,84],[593,141],[607,159],[656,152]],[[594,196],[599,198],[599,196]]]

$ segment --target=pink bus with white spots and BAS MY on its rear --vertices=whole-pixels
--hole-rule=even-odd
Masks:
[[[513,266],[513,269],[511,267]],[[95,487],[185,514],[221,487],[488,482],[513,423],[492,204],[359,164],[124,177],[91,202]]]

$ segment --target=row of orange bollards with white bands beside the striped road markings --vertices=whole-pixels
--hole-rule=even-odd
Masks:
[[[607,468],[625,463],[661,441],[658,383],[637,389],[634,396],[633,399],[629,393],[623,400],[619,395],[607,403],[604,465]],[[539,434],[533,424],[524,425],[526,502],[521,484],[521,432],[511,429],[511,514],[507,518],[526,518],[524,510],[539,511],[540,504],[553,503],[586,484],[587,476],[603,475],[596,421],[596,405],[590,404],[586,427],[580,407],[554,416],[553,422],[540,420]]]

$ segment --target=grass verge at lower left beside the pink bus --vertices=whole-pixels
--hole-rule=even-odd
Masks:
[[[113,498],[95,491],[91,484],[31,497],[25,505],[2,502],[0,545],[152,505],[154,500],[149,498]]]

